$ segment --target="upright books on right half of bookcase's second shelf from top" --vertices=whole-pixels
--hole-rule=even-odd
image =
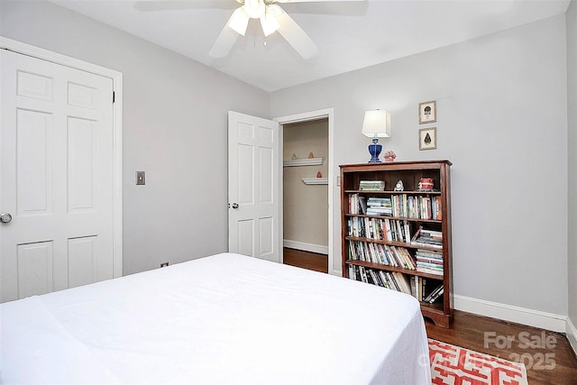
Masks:
[[[441,197],[392,195],[392,215],[416,219],[442,220]]]

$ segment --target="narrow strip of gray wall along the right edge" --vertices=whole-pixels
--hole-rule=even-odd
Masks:
[[[569,318],[577,327],[577,1],[567,11],[567,117],[569,148],[568,263]],[[577,349],[577,335],[573,335]]]

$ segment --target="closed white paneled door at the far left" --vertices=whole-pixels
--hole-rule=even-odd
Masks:
[[[0,55],[0,300],[113,278],[112,79]]]

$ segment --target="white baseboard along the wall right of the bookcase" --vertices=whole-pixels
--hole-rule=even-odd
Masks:
[[[567,316],[560,316],[525,307],[515,307],[499,304],[498,302],[490,302],[458,295],[454,295],[453,299],[453,307],[455,309],[478,314],[480,316],[490,316],[492,318],[499,318],[522,325],[535,326],[558,333],[565,333],[568,325]]]

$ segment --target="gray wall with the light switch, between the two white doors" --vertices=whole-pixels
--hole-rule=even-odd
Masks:
[[[48,2],[3,0],[0,34],[124,73],[124,274],[228,250],[226,114],[266,92]]]

